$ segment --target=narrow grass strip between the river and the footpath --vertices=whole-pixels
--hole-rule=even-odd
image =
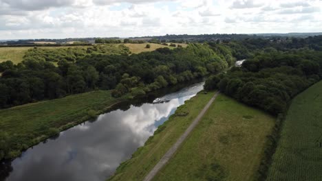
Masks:
[[[158,128],[144,147],[138,148],[130,160],[123,162],[118,167],[116,174],[110,180],[142,180],[186,128],[189,127],[190,123],[197,117],[213,95],[214,93],[198,94],[186,101],[168,121]],[[189,114],[182,117],[179,116],[180,112],[189,112]]]

